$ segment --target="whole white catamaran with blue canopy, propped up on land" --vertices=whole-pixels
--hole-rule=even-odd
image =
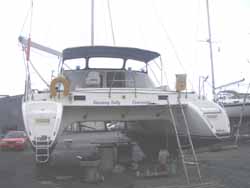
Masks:
[[[149,76],[152,64],[157,63],[163,78],[158,52],[94,45],[93,21],[91,33],[92,46],[63,52],[19,37],[27,57],[33,47],[60,59],[58,76],[49,84],[49,90],[41,91],[31,87],[27,58],[22,113],[37,163],[47,163],[63,130],[77,123],[121,122],[132,139],[156,152],[166,148],[166,139],[176,134],[183,138],[190,134],[199,142],[230,135],[225,110],[186,91],[185,75],[177,77],[176,90],[154,85]],[[77,66],[69,68],[71,64]]]

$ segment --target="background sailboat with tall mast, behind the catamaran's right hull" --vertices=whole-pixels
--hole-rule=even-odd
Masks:
[[[250,117],[250,94],[249,93],[239,93],[235,90],[226,90],[228,86],[232,86],[235,84],[239,84],[243,82],[245,79],[241,79],[238,81],[234,81],[231,83],[224,84],[219,87],[215,87],[215,79],[214,79],[214,62],[213,62],[213,47],[212,47],[212,34],[211,34],[211,25],[210,25],[210,14],[209,14],[209,0],[206,0],[206,7],[207,7],[207,23],[208,23],[208,34],[209,39],[207,40],[209,43],[209,52],[210,52],[210,62],[211,62],[211,76],[212,76],[212,94],[213,100],[221,105],[230,120],[230,129],[232,135],[239,136],[239,129],[242,124],[246,124],[242,132],[248,134],[250,133],[249,127],[249,117]],[[248,90],[249,90],[248,85]],[[216,92],[219,90],[219,92]],[[243,121],[244,118],[244,121]],[[236,138],[237,140],[238,138]],[[236,141],[237,142],[237,141]]]

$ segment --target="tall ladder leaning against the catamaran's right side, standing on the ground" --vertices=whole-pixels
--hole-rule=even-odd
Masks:
[[[194,150],[194,146],[193,146],[193,142],[192,142],[192,138],[191,138],[187,118],[186,118],[186,115],[185,115],[185,112],[184,112],[184,109],[183,109],[183,105],[182,105],[182,103],[180,101],[180,93],[178,93],[177,102],[178,102],[178,105],[179,105],[179,107],[181,109],[181,114],[182,114],[182,117],[183,117],[183,120],[184,120],[184,125],[185,125],[185,129],[186,129],[186,132],[187,132],[188,142],[189,142],[189,145],[190,145],[191,151],[192,151],[193,161],[188,161],[184,156],[184,152],[182,150],[183,147],[182,147],[182,144],[181,144],[181,141],[180,141],[180,138],[179,138],[179,133],[178,133],[178,129],[177,129],[173,109],[171,107],[169,99],[167,98],[167,105],[168,105],[170,116],[171,116],[171,119],[172,119],[172,122],[173,122],[173,127],[174,127],[174,131],[175,131],[175,135],[176,135],[177,145],[178,145],[178,149],[179,149],[179,152],[180,152],[180,156],[181,156],[181,160],[182,160],[182,165],[183,165],[186,181],[187,181],[187,184],[190,184],[190,178],[189,178],[189,172],[188,172],[188,168],[187,168],[188,166],[187,165],[192,165],[192,166],[196,167],[196,171],[197,171],[197,174],[198,174],[198,177],[199,177],[199,181],[201,183],[200,167],[199,167],[198,159],[197,159],[197,156],[196,156],[196,153],[195,153],[195,150]]]

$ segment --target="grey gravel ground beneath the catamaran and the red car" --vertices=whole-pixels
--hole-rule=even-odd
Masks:
[[[232,150],[201,152],[198,153],[198,158],[201,161],[203,181],[219,181],[227,188],[250,187],[250,146],[248,144]],[[107,174],[104,182],[87,184],[83,181],[82,169],[77,162],[72,162],[72,158],[67,159],[66,155],[60,160],[54,161],[50,167],[41,169],[36,167],[31,150],[0,152],[0,187],[150,188],[185,183],[183,173],[179,171],[176,176],[149,179],[136,178],[129,172]],[[194,173],[192,176],[197,177]]]

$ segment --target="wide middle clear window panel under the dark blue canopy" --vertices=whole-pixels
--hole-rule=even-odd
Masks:
[[[90,58],[89,68],[94,69],[122,69],[123,60],[118,58]]]

